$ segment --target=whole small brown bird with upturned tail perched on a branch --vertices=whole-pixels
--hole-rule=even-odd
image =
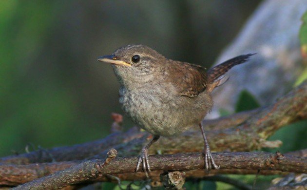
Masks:
[[[143,147],[140,164],[148,177],[148,149],[160,136],[181,133],[199,126],[205,141],[206,170],[218,169],[201,124],[213,106],[212,90],[226,82],[224,74],[231,67],[244,63],[253,54],[234,57],[211,68],[167,59],[145,45],[127,45],[98,61],[113,64],[121,85],[119,103],[136,125],[153,134]]]

